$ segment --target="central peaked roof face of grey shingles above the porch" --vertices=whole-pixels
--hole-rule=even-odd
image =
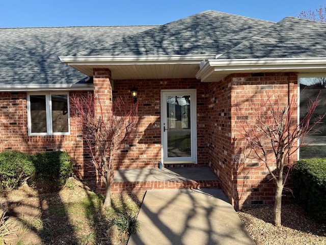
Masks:
[[[266,20],[208,10],[124,37],[113,45],[80,55],[222,54],[273,24]]]

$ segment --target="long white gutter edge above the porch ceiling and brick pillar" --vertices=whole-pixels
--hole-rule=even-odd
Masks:
[[[68,65],[164,65],[200,64],[216,55],[160,55],[160,56],[64,56],[59,59]]]

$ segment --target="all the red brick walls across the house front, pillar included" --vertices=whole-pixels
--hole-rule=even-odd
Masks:
[[[94,90],[108,105],[112,105],[112,96],[130,97],[133,86],[139,89],[137,132],[119,148],[115,169],[157,167],[161,160],[160,91],[196,88],[198,165],[211,167],[235,207],[273,203],[274,183],[268,181],[267,169],[243,159],[246,145],[235,108],[241,105],[243,112],[250,114],[264,91],[283,94],[286,102],[288,91],[297,94],[295,74],[230,75],[217,83],[196,79],[116,80],[111,88],[110,71],[94,70]],[[70,96],[86,93],[70,92]],[[94,168],[85,164],[89,156],[83,149],[82,129],[72,116],[70,135],[28,135],[26,96],[26,92],[0,93],[0,151],[67,151],[78,177],[94,177]]]

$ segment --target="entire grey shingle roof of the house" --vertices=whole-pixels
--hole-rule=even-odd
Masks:
[[[85,83],[59,56],[326,57],[326,23],[205,11],[161,26],[0,29],[0,85]]]

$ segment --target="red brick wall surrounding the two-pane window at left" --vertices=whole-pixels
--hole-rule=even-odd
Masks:
[[[72,158],[76,176],[94,176],[83,164],[83,139],[75,119],[70,117],[70,135],[29,136],[26,98],[26,92],[0,92],[0,152],[16,150],[35,154],[66,151]]]

